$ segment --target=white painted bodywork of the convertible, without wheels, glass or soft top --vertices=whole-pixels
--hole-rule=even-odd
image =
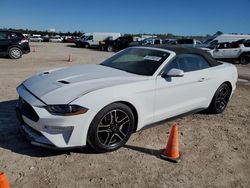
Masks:
[[[102,65],[80,65],[30,77],[17,88],[17,92],[39,114],[39,120],[35,122],[24,115],[22,118],[43,136],[32,133],[29,128],[25,128],[25,132],[33,134],[36,140],[33,144],[36,145],[85,146],[95,115],[111,103],[125,102],[136,109],[138,131],[146,125],[207,108],[215,91],[225,81],[230,82],[235,90],[237,70],[227,63],[185,73],[183,77],[172,77],[171,80],[162,78],[162,68],[176,55],[167,52],[169,57],[152,76],[135,75]],[[60,83],[60,80],[70,83]],[[76,116],[52,115],[43,108],[48,104],[76,104],[88,111]]]

